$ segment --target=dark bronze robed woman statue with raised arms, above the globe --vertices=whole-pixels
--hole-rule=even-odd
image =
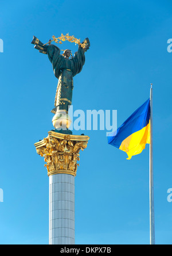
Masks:
[[[52,113],[57,110],[65,110],[68,113],[68,108],[72,104],[72,91],[73,91],[73,77],[81,72],[85,63],[85,52],[89,49],[89,39],[84,40],[85,47],[79,46],[78,51],[74,57],[71,55],[71,50],[66,49],[64,53],[60,54],[60,49],[53,44],[44,45],[37,37],[33,37],[32,44],[35,44],[36,49],[41,53],[47,54],[53,66],[55,77],[58,78],[58,85],[56,90],[56,97]]]

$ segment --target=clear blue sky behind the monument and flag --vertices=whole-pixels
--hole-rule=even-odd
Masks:
[[[48,175],[34,143],[53,129],[57,79],[30,44],[69,33],[91,47],[74,78],[73,108],[116,109],[118,127],[154,91],[155,242],[172,244],[171,1],[1,1],[0,244],[48,244]],[[77,51],[77,45],[61,48]],[[149,146],[127,161],[106,131],[90,137],[75,178],[76,244],[149,243]]]

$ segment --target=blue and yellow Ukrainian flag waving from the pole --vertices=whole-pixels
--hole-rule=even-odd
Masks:
[[[108,135],[108,144],[127,153],[131,159],[150,144],[150,98],[117,129]]]

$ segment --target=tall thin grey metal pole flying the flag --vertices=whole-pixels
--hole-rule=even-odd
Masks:
[[[153,180],[153,84],[152,83],[150,88],[149,189],[150,189],[150,244],[155,244],[154,180]]]

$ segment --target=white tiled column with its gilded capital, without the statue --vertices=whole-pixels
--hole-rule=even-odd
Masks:
[[[34,144],[49,176],[49,244],[75,244],[75,177],[89,137],[54,131]]]

